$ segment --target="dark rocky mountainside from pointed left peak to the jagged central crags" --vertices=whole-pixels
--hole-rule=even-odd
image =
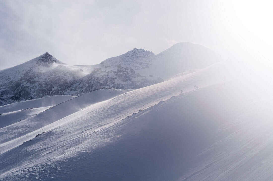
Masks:
[[[0,71],[0,106],[51,95],[78,96],[103,88],[138,89],[162,81],[156,76],[141,76],[121,65],[107,71],[66,65],[46,52]]]

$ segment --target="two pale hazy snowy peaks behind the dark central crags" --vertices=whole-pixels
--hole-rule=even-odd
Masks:
[[[123,55],[108,58],[99,65],[102,69],[121,65],[143,76],[153,75],[167,80],[183,71],[202,69],[221,60],[219,54],[202,45],[181,42],[157,55],[134,48]]]

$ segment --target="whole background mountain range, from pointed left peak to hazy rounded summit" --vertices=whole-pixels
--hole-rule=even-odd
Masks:
[[[52,95],[79,96],[105,88],[138,89],[218,61],[218,54],[186,42],[158,55],[135,48],[97,65],[67,65],[46,52],[0,71],[0,105]]]

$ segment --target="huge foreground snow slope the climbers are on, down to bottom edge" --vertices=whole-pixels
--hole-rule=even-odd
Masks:
[[[0,180],[272,180],[273,99],[234,67],[90,92],[1,128]]]

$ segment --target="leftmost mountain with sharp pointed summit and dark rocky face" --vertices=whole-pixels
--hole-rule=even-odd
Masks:
[[[65,94],[83,76],[81,69],[68,68],[46,52],[24,64],[0,71],[0,105]]]

